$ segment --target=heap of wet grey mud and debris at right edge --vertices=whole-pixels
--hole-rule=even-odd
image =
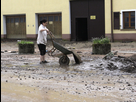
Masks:
[[[130,57],[115,56],[113,53],[109,53],[104,57],[108,61],[107,69],[109,70],[122,70],[128,73],[136,73],[136,54]],[[116,63],[113,63],[116,62]],[[118,66],[117,63],[122,63]]]

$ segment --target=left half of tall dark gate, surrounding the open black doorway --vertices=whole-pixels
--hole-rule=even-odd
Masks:
[[[75,41],[77,40],[76,18],[88,18],[88,0],[72,0],[70,1],[70,7],[71,7],[71,40]],[[78,21],[79,20],[80,19],[78,19]]]

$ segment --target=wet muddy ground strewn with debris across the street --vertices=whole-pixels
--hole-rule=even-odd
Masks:
[[[50,50],[51,41],[48,42],[47,50]],[[136,102],[136,73],[120,70],[129,63],[103,60],[105,55],[92,55],[89,41],[57,42],[75,50],[83,63],[75,64],[70,54],[69,66],[62,67],[58,57],[46,54],[50,63],[39,64],[36,44],[34,54],[18,54],[16,41],[1,42],[2,102]],[[111,46],[111,51],[118,51],[119,56],[136,54],[136,42],[116,42]],[[110,70],[109,63],[116,69]],[[130,67],[135,68],[134,65]]]

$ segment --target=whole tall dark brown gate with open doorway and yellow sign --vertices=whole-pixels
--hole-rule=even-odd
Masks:
[[[71,40],[105,37],[104,0],[71,0]]]

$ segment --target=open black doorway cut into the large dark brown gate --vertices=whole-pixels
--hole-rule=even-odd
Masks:
[[[88,40],[87,18],[76,18],[76,41]]]

